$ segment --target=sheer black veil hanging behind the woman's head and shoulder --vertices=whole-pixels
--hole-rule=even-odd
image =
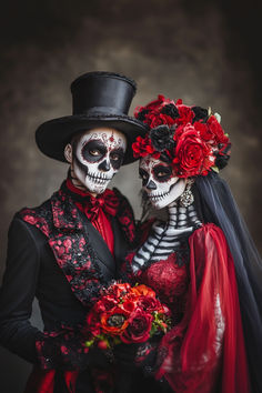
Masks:
[[[194,184],[204,222],[220,226],[234,260],[252,392],[262,392],[262,260],[224,180],[216,173]]]

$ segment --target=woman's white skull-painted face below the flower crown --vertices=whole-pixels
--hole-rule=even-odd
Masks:
[[[157,209],[168,206],[184,191],[187,181],[173,175],[172,167],[150,155],[140,160],[139,173],[143,190]]]

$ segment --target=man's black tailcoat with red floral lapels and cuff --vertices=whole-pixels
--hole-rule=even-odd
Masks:
[[[118,263],[134,238],[132,209],[119,191],[114,193],[114,258],[64,184],[42,205],[16,214],[10,225],[0,342],[41,369],[87,367],[79,325],[100,289],[117,279]],[[46,333],[29,322],[34,296]]]

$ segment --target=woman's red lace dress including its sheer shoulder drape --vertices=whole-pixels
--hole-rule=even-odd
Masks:
[[[177,393],[250,392],[234,264],[223,232],[204,224],[188,246],[183,263],[174,251],[132,276],[172,310],[173,328],[158,346],[155,376]]]

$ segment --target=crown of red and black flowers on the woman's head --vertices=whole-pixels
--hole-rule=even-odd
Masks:
[[[172,162],[179,178],[219,172],[230,158],[231,143],[220,125],[218,113],[201,107],[188,107],[159,95],[134,117],[149,125],[145,138],[132,144],[135,158],[152,155]]]

